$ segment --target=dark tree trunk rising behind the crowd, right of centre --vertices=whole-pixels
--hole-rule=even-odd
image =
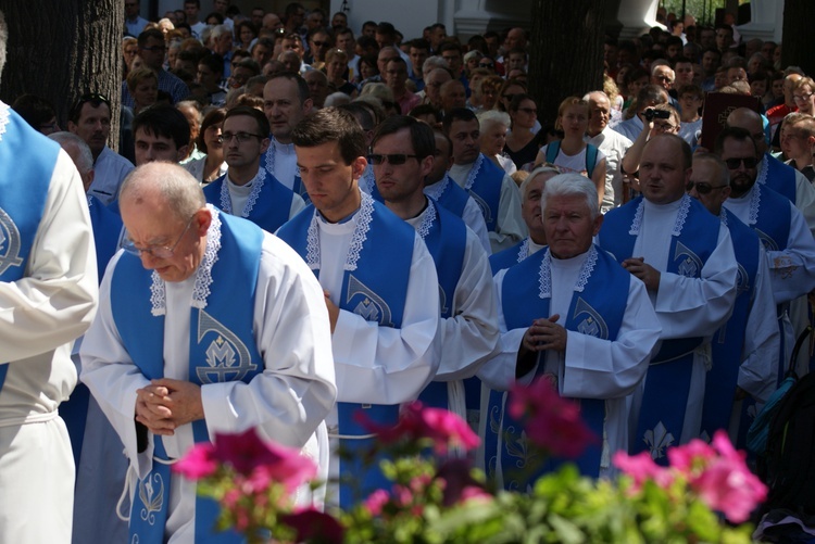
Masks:
[[[554,124],[566,97],[603,88],[607,0],[534,0],[529,93],[541,125]]]

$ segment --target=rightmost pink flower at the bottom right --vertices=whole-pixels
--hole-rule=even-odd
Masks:
[[[742,523],[766,498],[767,488],[750,472],[744,453],[732,447],[727,433],[716,431],[713,447],[719,456],[690,482],[691,488],[707,506],[724,513],[729,521]]]

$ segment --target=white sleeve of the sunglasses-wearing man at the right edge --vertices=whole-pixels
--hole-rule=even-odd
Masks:
[[[815,239],[801,212],[790,203],[790,233],[783,251],[767,251],[776,304],[815,289]]]

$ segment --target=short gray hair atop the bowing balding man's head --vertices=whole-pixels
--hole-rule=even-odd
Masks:
[[[138,200],[150,190],[159,191],[173,213],[185,222],[206,205],[198,180],[177,164],[164,162],[142,164],[130,172],[122,184],[118,200]]]

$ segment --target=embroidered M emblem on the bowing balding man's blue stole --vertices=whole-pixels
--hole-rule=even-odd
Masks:
[[[203,309],[198,317],[198,343],[210,333],[216,338],[206,349],[206,365],[196,368],[201,383],[241,381],[247,374],[258,368],[252,364],[249,350],[240,339]]]

